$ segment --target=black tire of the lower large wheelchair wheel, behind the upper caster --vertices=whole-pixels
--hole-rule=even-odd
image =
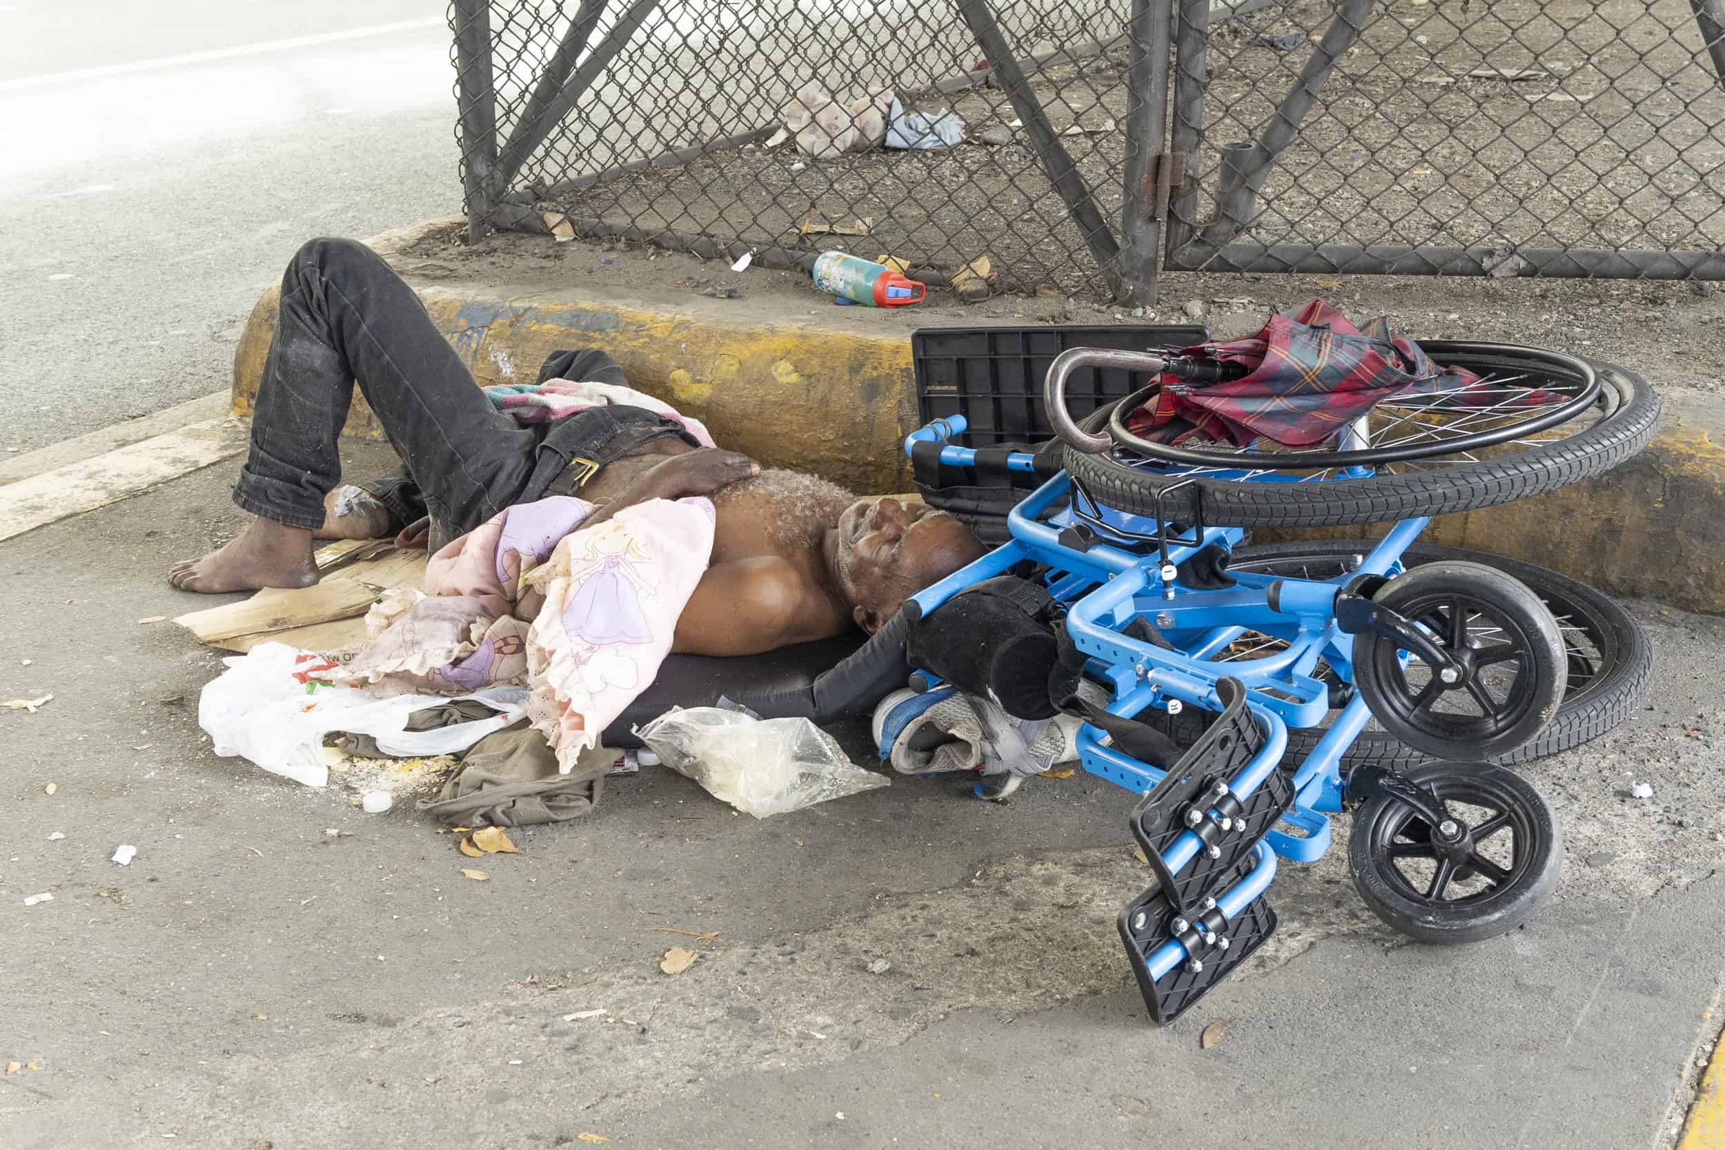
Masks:
[[[1233,553],[1230,567],[1328,579],[1349,569],[1351,559],[1364,555],[1371,547],[1368,540],[1313,540],[1242,547]],[[1570,676],[1558,714],[1537,736],[1490,759],[1490,762],[1549,759],[1582,743],[1590,743],[1635,714],[1653,684],[1653,643],[1647,641],[1647,633],[1635,622],[1635,617],[1623,610],[1616,600],[1549,567],[1504,555],[1461,547],[1437,547],[1435,543],[1414,543],[1402,552],[1402,562],[1409,567],[1444,559],[1485,564],[1515,576],[1544,600],[1565,636]],[[1161,721],[1161,726],[1182,747],[1192,743],[1208,726],[1202,712],[1190,710],[1178,716],[1151,710],[1140,717],[1151,722]],[[1289,748],[1283,762],[1297,766],[1304,760],[1323,738],[1325,729],[1289,728]],[[1354,740],[1354,745],[1342,752],[1342,771],[1363,764],[1406,769],[1421,762],[1430,762],[1430,755],[1377,726],[1368,726]]]

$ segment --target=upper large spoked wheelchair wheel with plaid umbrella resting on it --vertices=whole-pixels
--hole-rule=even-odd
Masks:
[[[1513,345],[1421,347],[1478,372],[1484,390],[1385,400],[1313,450],[1273,452],[1121,447],[1123,419],[1145,390],[1083,419],[1083,431],[1107,429],[1116,448],[1066,447],[1066,469],[1097,503],[1140,516],[1240,528],[1389,522],[1494,507],[1609,471],[1647,445],[1659,419],[1653,388],[1625,367]]]

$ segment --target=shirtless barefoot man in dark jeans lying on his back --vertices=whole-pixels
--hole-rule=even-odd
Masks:
[[[559,353],[555,376],[623,384],[602,352]],[[336,514],[336,447],[354,383],[405,476],[366,484]],[[314,538],[385,536],[421,514],[438,545],[545,495],[599,505],[590,522],[650,498],[712,497],[712,559],[673,650],[752,655],[873,633],[918,590],[983,553],[919,502],[859,500],[737,452],[702,448],[640,407],[595,407],[518,426],[492,409],[419,297],[371,248],[312,240],[281,279],[281,317],[252,417],[235,502],[257,516],[233,541],[176,564],[186,591],[310,586]]]

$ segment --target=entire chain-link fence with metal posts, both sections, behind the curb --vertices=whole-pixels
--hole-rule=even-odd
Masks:
[[[466,209],[1118,300],[1157,267],[1720,279],[1720,3],[454,0]]]

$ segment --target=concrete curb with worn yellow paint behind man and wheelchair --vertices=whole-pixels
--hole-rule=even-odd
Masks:
[[[371,243],[393,257],[445,222]],[[812,471],[864,493],[911,488],[900,443],[914,426],[916,386],[902,331],[857,333],[821,314],[787,321],[781,300],[666,303],[580,290],[512,293],[492,283],[459,290],[416,283],[416,290],[481,383],[531,381],[550,352],[600,347],[635,386],[700,417],[721,443],[766,466]],[[235,414],[252,410],[276,297],[271,290],[259,300],[240,340]],[[1618,471],[1446,516],[1428,538],[1556,567],[1604,591],[1725,612],[1725,402],[1697,393],[1665,398],[1659,434]],[[345,433],[383,438],[357,395]]]

